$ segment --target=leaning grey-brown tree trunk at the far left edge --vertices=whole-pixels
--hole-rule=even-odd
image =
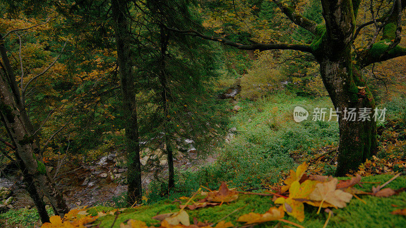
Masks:
[[[41,221],[47,222],[49,216],[45,210],[44,196],[49,199],[57,215],[63,216],[69,212],[69,208],[42,162],[43,157],[38,137],[34,134],[33,125],[27,116],[3,37],[0,37],[0,42],[0,56],[2,58],[2,70],[0,70],[1,120],[13,145],[27,191],[36,204]]]

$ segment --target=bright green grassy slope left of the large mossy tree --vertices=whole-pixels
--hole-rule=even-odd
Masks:
[[[339,139],[336,122],[312,121],[313,108],[332,107],[328,97],[311,99],[280,93],[257,101],[244,99],[238,105],[242,108],[231,117],[229,126],[237,129],[235,138],[219,148],[216,163],[196,172],[177,170],[176,188],[170,199],[189,195],[200,185],[216,188],[221,181],[239,189],[276,183],[296,166],[291,158],[293,152],[311,155],[314,148],[336,145]],[[298,105],[309,111],[307,121],[294,122],[293,109]],[[149,202],[164,199],[159,195],[160,183],[151,189]]]

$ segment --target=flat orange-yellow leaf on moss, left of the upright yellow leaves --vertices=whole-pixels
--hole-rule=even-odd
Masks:
[[[248,213],[240,216],[237,221],[246,222],[245,224],[262,223],[267,221],[275,221],[283,218],[285,212],[283,212],[282,206],[279,208],[271,207],[268,211],[263,214],[258,213]]]

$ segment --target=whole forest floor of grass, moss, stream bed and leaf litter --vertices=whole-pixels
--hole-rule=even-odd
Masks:
[[[175,161],[178,182],[170,197],[160,195],[159,189],[148,191],[144,200],[146,206],[126,209],[117,219],[114,216],[103,217],[100,219],[100,227],[110,227],[113,223],[114,227],[119,227],[120,223],[128,218],[140,219],[149,225],[156,224],[157,221],[151,217],[157,213],[178,210],[181,197],[190,197],[200,186],[217,189],[222,181],[240,191],[275,189],[289,175],[290,169],[304,161],[310,164],[307,170],[309,174],[334,174],[339,133],[337,123],[315,122],[311,117],[301,123],[292,120],[292,110],[295,106],[304,107],[309,112],[314,107],[329,108],[332,105],[328,97],[310,99],[281,93],[257,101],[231,101],[230,112],[234,105],[240,106],[238,111],[231,112],[233,114],[229,127],[235,128],[236,132],[227,137],[226,143],[215,155],[207,159],[195,157],[196,160],[193,161],[185,158]],[[354,174],[358,172],[367,176],[362,179],[365,182],[385,182],[390,178],[390,174],[406,172],[406,166],[402,168],[402,165],[406,164],[406,125],[399,116],[399,113],[404,112],[404,108],[401,105],[388,105],[387,123],[379,125],[380,154],[360,166],[358,171],[354,171]],[[100,159],[103,158],[97,158],[90,164],[61,168],[59,174],[65,175],[59,178],[58,184],[62,186],[71,208],[98,205],[97,210],[107,212],[113,208],[124,207],[125,168],[116,165],[120,156],[105,154],[102,156],[106,158],[103,165],[100,165]],[[162,175],[165,171],[166,168],[163,168]],[[154,184],[153,178],[153,175],[144,175],[145,186]],[[12,182],[9,181],[9,184]],[[393,188],[405,187],[406,179],[399,177],[390,184]],[[358,187],[370,189],[371,184]],[[15,191],[23,196],[22,192],[21,188]],[[334,209],[335,216],[331,218],[329,227],[375,227],[374,224],[377,224],[376,227],[394,227],[406,223],[404,217],[389,214],[395,209],[392,204],[406,207],[404,192],[390,198],[363,196],[361,199],[367,204],[352,200],[345,209]],[[29,201],[27,195],[17,199],[13,203],[16,209],[0,214],[0,223],[3,222],[3,226],[7,227],[38,225],[35,208],[22,208],[29,204]],[[180,201],[184,203],[184,200]],[[216,222],[226,216],[223,220],[235,223],[236,216],[251,211],[263,213],[271,205],[272,197],[242,195],[235,202],[188,213],[190,218],[196,217],[199,221]],[[96,209],[92,210],[93,212],[89,213],[95,213]],[[323,226],[325,213],[316,215],[314,208],[307,207],[305,212],[306,219],[301,225]],[[297,222],[291,217],[288,220]],[[275,225],[281,226],[278,222],[268,222],[264,227]]]

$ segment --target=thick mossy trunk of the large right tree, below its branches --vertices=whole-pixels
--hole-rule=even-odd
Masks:
[[[375,101],[369,89],[364,86],[362,77],[352,63],[351,56],[346,58],[323,59],[320,70],[324,85],[335,108],[340,113],[340,144],[338,149],[336,176],[345,176],[367,158],[376,154],[377,128],[373,118]],[[355,108],[356,119],[348,118],[349,111]],[[360,108],[370,108],[369,121],[359,120]],[[362,109],[361,109],[362,110]],[[344,119],[347,117],[346,119]]]

